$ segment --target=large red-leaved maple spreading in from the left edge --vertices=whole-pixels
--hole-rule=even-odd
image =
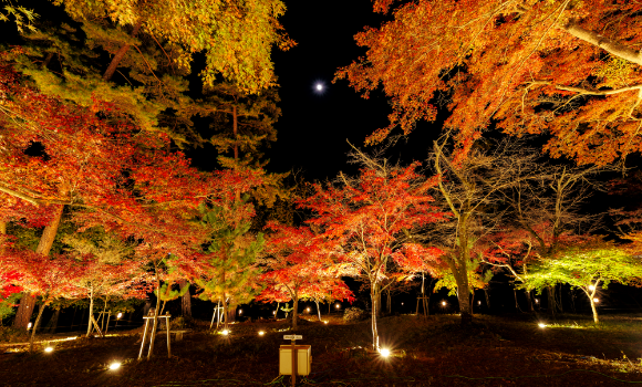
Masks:
[[[95,101],[97,111],[114,109],[97,116],[20,84],[10,66],[1,70],[2,217],[45,226],[38,253],[51,249],[65,207],[81,230],[100,226],[170,247],[205,238],[189,219],[208,195],[236,187],[234,178],[197,172],[182,153],[168,151],[167,136],[139,130],[113,105]],[[25,151],[33,144],[35,155]],[[21,302],[17,326],[27,327],[34,300],[23,301],[31,304]]]

